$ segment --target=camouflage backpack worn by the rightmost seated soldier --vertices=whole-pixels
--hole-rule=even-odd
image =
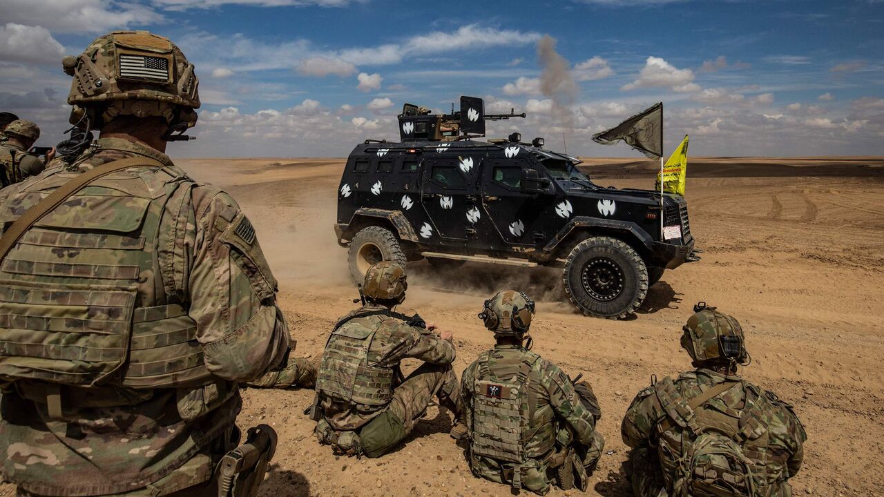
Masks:
[[[673,497],[766,497],[763,464],[747,455],[754,447],[767,445],[766,427],[754,403],[747,402],[747,409],[737,417],[703,408],[706,401],[738,383],[720,383],[690,401],[685,401],[670,378],[657,383],[657,397],[667,412],[657,425],[658,449]],[[678,440],[668,440],[667,432],[674,424],[684,432]]]

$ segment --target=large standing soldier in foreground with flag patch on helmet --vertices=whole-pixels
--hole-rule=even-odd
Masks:
[[[101,135],[0,192],[0,477],[26,496],[216,496],[243,452],[225,457],[237,384],[286,354],[276,281],[233,199],[164,154],[200,106],[181,50],[119,31],[63,64],[72,121]],[[271,453],[268,430],[247,444]],[[256,478],[239,483],[270,456],[240,460]]]

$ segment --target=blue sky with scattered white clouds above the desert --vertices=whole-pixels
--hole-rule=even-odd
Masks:
[[[667,150],[690,134],[694,156],[884,155],[881,0],[4,0],[0,19],[0,107],[46,144],[66,120],[60,58],[129,27],[196,65],[198,140],[178,157],[345,156],[395,138],[402,103],[461,94],[529,112],[490,134],[564,136],[572,154],[631,157],[591,134],[662,101]]]

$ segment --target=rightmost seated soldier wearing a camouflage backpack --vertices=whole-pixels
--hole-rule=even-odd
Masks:
[[[623,418],[636,497],[791,495],[804,426],[776,394],[743,380],[743,328],[700,302],[682,326],[695,371],[644,388]]]

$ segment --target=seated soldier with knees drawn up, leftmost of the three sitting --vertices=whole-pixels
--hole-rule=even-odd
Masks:
[[[394,312],[405,270],[381,262],[365,274],[361,309],[331,332],[316,381],[316,437],[336,454],[380,457],[410,433],[433,397],[458,417],[461,388],[451,367],[453,334]],[[423,365],[402,378],[400,361]]]

